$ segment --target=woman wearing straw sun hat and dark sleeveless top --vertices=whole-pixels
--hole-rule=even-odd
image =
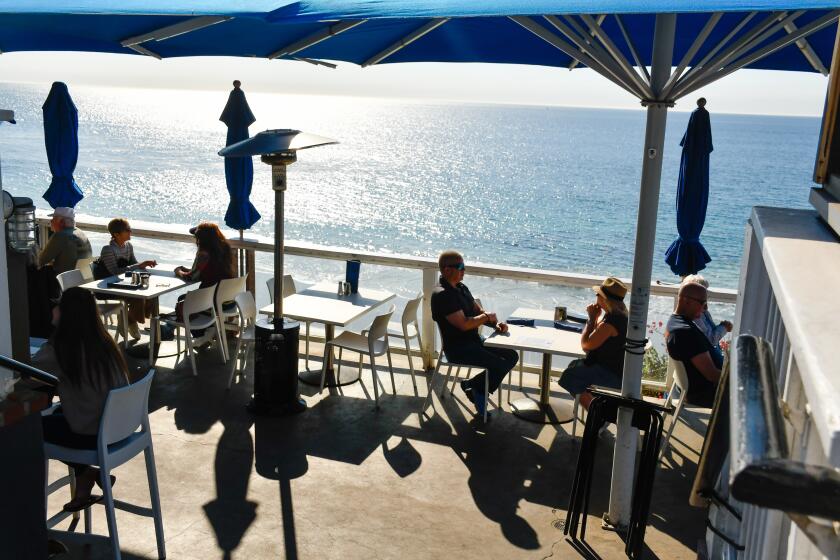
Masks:
[[[559,381],[569,393],[580,395],[580,403],[586,408],[592,400],[587,391],[590,385],[621,388],[627,338],[627,286],[618,278],[609,277],[600,286],[592,286],[592,291],[595,303],[586,307],[588,319],[580,335],[586,357],[569,364]]]

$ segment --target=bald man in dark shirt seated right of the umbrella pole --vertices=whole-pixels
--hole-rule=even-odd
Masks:
[[[714,360],[709,339],[694,324],[705,305],[706,288],[699,284],[683,285],[666,332],[668,354],[682,362],[688,375],[688,402],[709,408],[714,404],[723,364]]]

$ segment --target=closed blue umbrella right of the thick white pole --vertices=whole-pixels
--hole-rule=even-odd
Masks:
[[[709,202],[709,154],[712,127],[706,100],[697,100],[697,109],[688,119],[680,145],[680,177],[677,182],[677,231],[680,236],[665,251],[665,262],[674,274],[685,276],[706,268],[711,257],[700,243]]]

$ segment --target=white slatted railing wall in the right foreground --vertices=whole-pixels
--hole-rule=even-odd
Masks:
[[[772,347],[789,458],[838,469],[840,242],[812,211],[755,208],[741,267],[735,334],[759,336]],[[727,475],[724,469],[719,483],[724,496]],[[840,550],[837,520],[729,501],[741,520],[711,508],[710,523],[727,538],[707,533],[710,558],[831,558]]]

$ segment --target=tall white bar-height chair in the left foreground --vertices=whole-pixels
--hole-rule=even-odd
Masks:
[[[44,444],[44,455],[47,462],[49,462],[49,459],[55,459],[70,463],[95,465],[99,468],[100,472],[99,484],[102,487],[104,495],[101,503],[105,506],[109,537],[90,534],[90,506],[88,506],[85,509],[86,534],[61,532],[61,540],[89,542],[96,538],[107,538],[111,542],[112,558],[120,560],[120,541],[114,510],[121,509],[154,519],[158,558],[166,558],[166,547],[163,537],[163,515],[160,508],[157,469],[155,468],[155,454],[152,446],[152,432],[149,426],[149,388],[152,385],[154,375],[155,370],[150,369],[149,373],[143,379],[126,387],[113,389],[108,393],[108,399],[105,401],[105,408],[102,412],[102,420],[99,422],[99,435],[97,437],[96,449],[72,449],[51,443]],[[143,452],[144,458],[146,459],[146,477],[149,483],[149,497],[152,502],[151,508],[115,500],[113,489],[111,488],[111,471],[139,455],[140,452]],[[68,484],[68,479],[72,489],[75,480],[72,476],[64,477],[49,485],[46,489],[46,495],[49,496],[49,494],[58,488]],[[54,527],[61,520],[69,516],[69,513],[59,512],[47,520],[47,527]]]

